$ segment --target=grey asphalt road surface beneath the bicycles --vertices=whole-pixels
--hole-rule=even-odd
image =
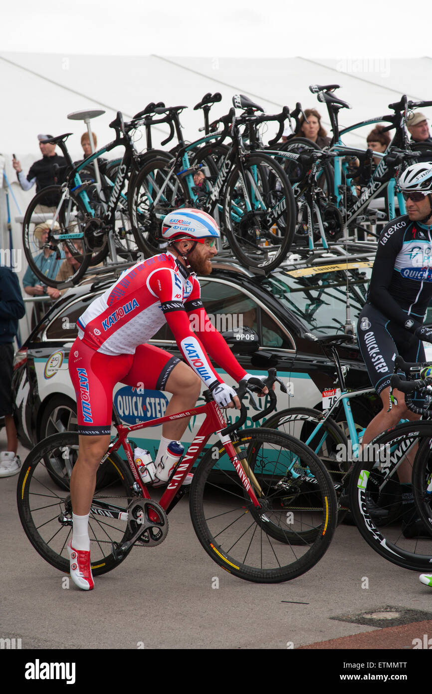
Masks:
[[[6,450],[4,430],[0,450]],[[26,452],[20,448],[21,459]],[[170,514],[162,545],[135,548],[116,570],[96,578],[94,591],[80,591],[26,538],[17,479],[0,480],[0,637],[20,638],[23,649],[283,650],[320,648],[367,632],[367,645],[342,639],[323,648],[408,649],[414,638],[424,639],[424,620],[432,619],[432,590],[417,573],[381,559],[349,525],[338,527],[325,557],[291,582],[262,585],[233,577],[202,550],[187,498]],[[335,619],[388,606],[411,625],[395,645],[382,628],[394,629],[386,614],[376,627]],[[404,617],[406,609],[411,612]],[[426,614],[415,622],[419,611]],[[432,646],[432,628],[428,638]]]

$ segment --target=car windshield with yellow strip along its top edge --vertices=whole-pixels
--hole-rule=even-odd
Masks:
[[[347,276],[350,318],[354,325],[365,305],[373,261],[337,262],[284,270],[263,281],[273,296],[316,335],[331,335],[345,325]]]

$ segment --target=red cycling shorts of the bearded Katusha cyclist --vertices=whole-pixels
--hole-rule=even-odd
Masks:
[[[164,390],[177,357],[154,345],[139,345],[135,354],[96,352],[76,338],[69,353],[69,374],[76,393],[78,434],[111,433],[112,392],[116,383]]]

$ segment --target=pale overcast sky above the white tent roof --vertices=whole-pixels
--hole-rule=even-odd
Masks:
[[[431,18],[406,0],[2,0],[0,51],[419,57]]]

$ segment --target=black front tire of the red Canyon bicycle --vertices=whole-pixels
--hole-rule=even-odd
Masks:
[[[324,523],[321,523],[320,525],[321,530],[313,538],[309,550],[306,550],[306,553],[302,555],[302,557],[296,557],[295,561],[293,561],[291,564],[286,566],[280,566],[279,564],[278,568],[265,569],[257,566],[248,566],[248,564],[245,564],[244,561],[240,561],[239,559],[236,559],[236,557],[230,555],[229,552],[232,550],[232,548],[230,548],[230,550],[225,550],[225,548],[221,546],[219,543],[220,541],[223,541],[221,539],[221,533],[218,533],[219,540],[213,536],[207,524],[207,521],[211,520],[211,518],[207,519],[205,514],[204,499],[208,489],[206,485],[209,475],[214,472],[214,468],[217,469],[218,464],[218,458],[215,457],[213,450],[207,451],[207,453],[202,457],[200,463],[198,464],[198,468],[196,468],[196,472],[193,475],[193,482],[191,484],[189,498],[191,520],[193,529],[195,530],[202,547],[205,549],[209,557],[216,561],[218,566],[221,566],[229,573],[232,573],[233,575],[247,581],[255,583],[279,583],[302,575],[311,569],[325,554],[336,527],[336,494],[334,492],[333,483],[325,469],[325,466],[322,465],[320,459],[318,459],[318,457],[316,457],[307,446],[304,446],[301,441],[298,441],[293,437],[288,437],[286,434],[280,434],[274,430],[263,428],[241,430],[236,437],[236,440],[233,441],[234,446],[241,446],[243,444],[247,445],[248,448],[250,448],[250,446],[253,444],[257,446],[257,442],[261,445],[263,443],[274,443],[277,446],[285,446],[287,449],[289,448],[291,452],[294,452],[295,455],[301,455],[302,460],[306,460],[309,463],[311,466],[311,471],[313,471],[313,475],[315,475],[316,479],[318,480],[320,491],[322,491],[322,495],[324,496],[325,500],[324,502],[327,505],[327,513]],[[218,448],[218,456],[221,457],[224,452],[225,447],[221,444]],[[240,486],[240,489],[241,494],[239,493],[239,498],[243,498],[243,502],[240,501],[239,503],[243,503],[243,507],[241,508],[245,509],[245,490],[243,486]],[[244,514],[247,513],[248,509],[243,511],[243,517],[245,517]],[[256,518],[254,518],[252,514],[248,516],[248,518],[251,517],[254,519],[254,522],[257,523]],[[230,525],[234,524],[230,523]],[[250,527],[252,527],[252,524]],[[262,534],[266,534],[263,527],[263,521],[261,521],[261,523],[257,523],[257,527],[261,529],[260,532],[262,538]],[[271,533],[268,533],[267,535],[270,535],[270,537],[273,537],[274,539],[274,536]],[[268,541],[270,542],[270,540]],[[235,544],[236,543],[234,543],[234,545]],[[296,543],[295,546],[298,544],[299,543]],[[281,545],[286,547],[288,543],[282,542]],[[237,550],[234,551],[240,550],[237,548]]]

